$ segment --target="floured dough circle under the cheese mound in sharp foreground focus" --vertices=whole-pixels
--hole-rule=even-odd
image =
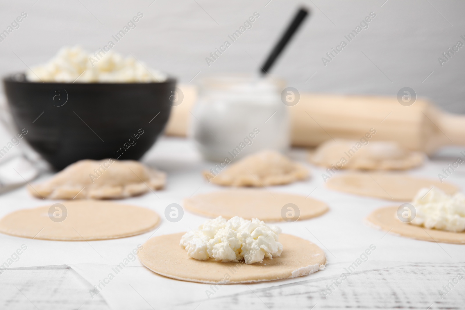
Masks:
[[[263,263],[221,263],[213,258],[197,260],[187,256],[179,245],[184,232],[153,237],[139,252],[142,264],[159,275],[177,280],[216,284],[272,281],[305,276],[326,264],[325,252],[312,242],[287,234],[279,235],[283,244],[280,257],[264,258]],[[266,264],[266,265],[265,265]],[[227,275],[227,276],[226,276]]]

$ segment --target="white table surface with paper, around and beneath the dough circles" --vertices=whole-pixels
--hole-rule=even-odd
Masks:
[[[293,158],[304,161],[305,152],[293,150]],[[168,172],[167,186],[126,203],[157,211],[163,216],[170,203],[194,193],[218,190],[202,178],[200,171],[213,166],[201,160],[184,139],[162,138],[143,161]],[[437,178],[450,160],[434,160],[414,175]],[[385,234],[366,225],[363,219],[374,209],[396,205],[385,200],[362,198],[330,191],[321,178],[323,170],[308,165],[312,178],[270,188],[309,195],[329,204],[325,215],[295,223],[279,223],[283,232],[311,240],[325,252],[325,270],[306,277],[261,284],[223,285],[210,298],[207,284],[160,277],[131,262],[98,295],[89,293],[111,268],[137,244],[151,235],[186,231],[205,218],[185,212],[178,223],[163,220],[155,232],[129,238],[84,242],[31,240],[0,235],[0,264],[21,244],[27,245],[18,261],[0,274],[0,309],[463,309],[465,279],[452,287],[449,281],[465,276],[465,245],[437,244]],[[464,189],[464,170],[447,181]],[[344,173],[344,172],[338,172]],[[45,176],[46,178],[49,176]],[[158,198],[157,198],[158,196]],[[18,209],[47,204],[30,197],[25,188],[0,196],[0,216]],[[341,274],[370,245],[376,247],[368,259],[344,280]],[[463,269],[460,269],[463,268]],[[339,284],[334,284],[339,283]],[[448,285],[450,290],[443,287]],[[331,287],[332,286],[332,287]],[[438,290],[446,293],[442,298]]]

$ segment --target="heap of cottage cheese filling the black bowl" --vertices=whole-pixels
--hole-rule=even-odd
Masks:
[[[80,46],[63,47],[46,64],[26,72],[32,82],[148,83],[164,82],[166,74],[148,68],[132,56],[99,50],[88,53]]]

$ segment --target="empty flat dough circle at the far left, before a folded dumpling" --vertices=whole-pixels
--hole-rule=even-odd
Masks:
[[[14,211],[0,220],[0,232],[17,237],[89,241],[139,235],[151,231],[160,222],[149,209],[106,201],[64,201],[67,216],[62,222],[49,218],[46,205]]]

